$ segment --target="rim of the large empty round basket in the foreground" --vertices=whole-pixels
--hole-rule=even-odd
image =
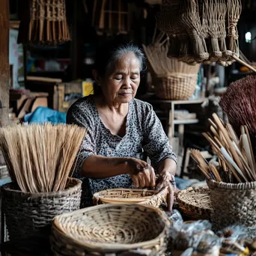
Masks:
[[[147,240],[144,242],[132,243],[132,244],[127,245],[125,243],[124,244],[123,243],[102,243],[102,242],[99,243],[99,242],[92,242],[91,240],[87,240],[88,242],[76,240],[71,235],[64,233],[64,229],[61,227],[61,225],[58,224],[58,219],[62,218],[64,216],[71,217],[73,215],[77,215],[77,213],[85,213],[90,210],[97,210],[97,209],[111,208],[111,207],[134,207],[134,208],[141,207],[144,209],[150,209],[159,215],[159,217],[162,219],[162,222],[165,222],[165,227],[163,228],[162,232],[153,240]],[[80,210],[75,210],[71,213],[63,213],[59,216],[55,216],[55,218],[53,219],[53,227],[55,229],[57,229],[58,232],[60,232],[64,237],[66,237],[69,240],[72,240],[73,243],[79,244],[79,246],[85,246],[86,248],[88,248],[90,250],[97,250],[97,252],[100,252],[100,251],[106,252],[106,251],[113,251],[113,250],[124,251],[124,250],[130,250],[130,249],[138,249],[143,246],[148,246],[150,244],[156,243],[158,240],[158,237],[164,236],[165,229],[167,228],[166,227],[167,225],[171,225],[171,222],[168,220],[167,216],[165,215],[165,213],[162,210],[159,210],[156,207],[153,207],[150,205],[145,205],[145,204],[100,204],[100,205],[93,206],[93,207],[87,207],[87,208],[83,208]]]

